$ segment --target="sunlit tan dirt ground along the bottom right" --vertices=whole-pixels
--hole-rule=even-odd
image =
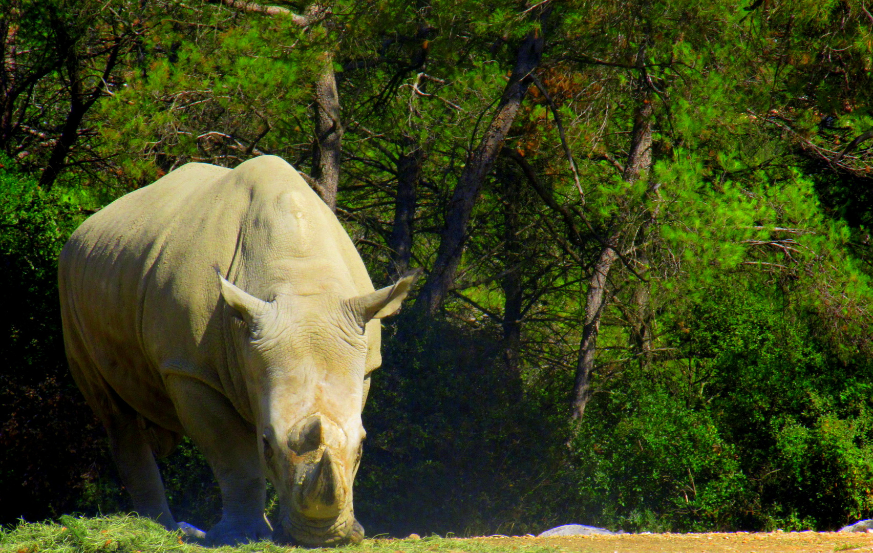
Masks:
[[[835,553],[873,551],[873,534],[853,532],[771,532],[732,534],[624,534],[619,536],[485,538],[506,550],[545,545],[567,553]],[[516,543],[512,543],[516,542]],[[495,543],[495,545],[497,545]],[[515,546],[515,547],[513,547]],[[500,548],[503,549],[503,548]],[[526,548],[524,548],[526,549]]]

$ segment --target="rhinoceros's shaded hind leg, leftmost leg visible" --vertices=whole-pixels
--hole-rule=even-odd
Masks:
[[[109,446],[124,487],[134,501],[134,511],[175,530],[161,473],[135,418],[116,415],[107,422]]]

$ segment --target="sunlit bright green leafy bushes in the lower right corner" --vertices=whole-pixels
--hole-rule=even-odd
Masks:
[[[835,528],[870,512],[873,364],[842,363],[766,286],[703,296],[674,322],[675,361],[623,375],[574,439],[587,511],[634,530]]]

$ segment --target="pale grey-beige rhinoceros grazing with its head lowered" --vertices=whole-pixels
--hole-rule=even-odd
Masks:
[[[379,319],[416,276],[375,291],[333,212],[275,156],[189,163],[88,218],[58,259],[66,355],[134,509],[176,528],[155,456],[189,436],[221,487],[208,543],[360,541]]]

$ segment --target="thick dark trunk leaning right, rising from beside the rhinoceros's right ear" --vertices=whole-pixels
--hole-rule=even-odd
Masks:
[[[548,12],[544,11],[540,16],[542,24],[545,24],[547,14]],[[515,121],[521,100],[524,100],[527,88],[533,80],[530,75],[540,63],[545,45],[543,34],[543,31],[532,31],[519,45],[515,67],[504,88],[494,117],[458,178],[440,237],[436,262],[416,300],[416,309],[423,310],[427,315],[433,315],[443,305],[443,300],[454,283],[457,264],[464,253],[467,225],[470,222],[473,206],[476,204],[485,176],[491,171],[506,134]]]

